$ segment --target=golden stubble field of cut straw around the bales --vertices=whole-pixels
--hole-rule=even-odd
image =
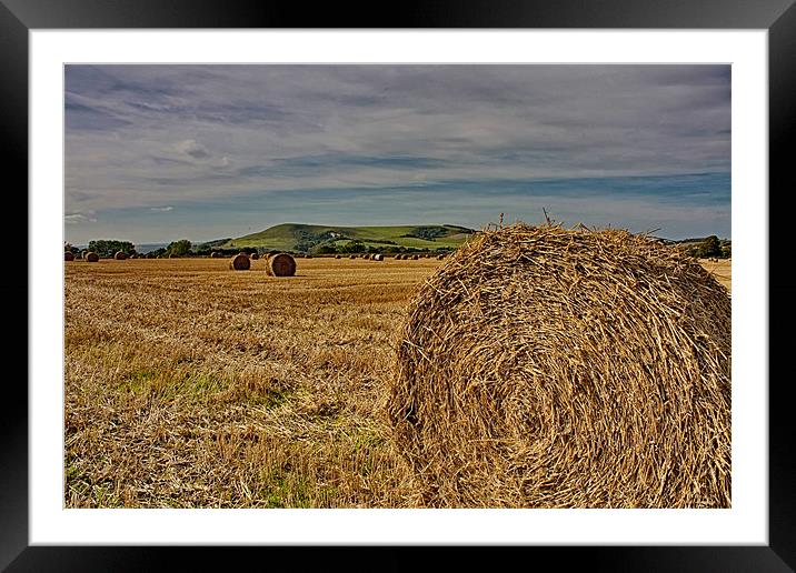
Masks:
[[[444,262],[66,262],[66,505],[419,505],[381,409],[405,305]]]

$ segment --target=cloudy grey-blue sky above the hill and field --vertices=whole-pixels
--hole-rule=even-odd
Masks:
[[[64,240],[730,233],[729,66],[66,66]]]

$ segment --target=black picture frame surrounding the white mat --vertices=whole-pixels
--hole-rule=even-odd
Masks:
[[[496,28],[496,29],[765,29],[768,31],[769,103],[769,262],[782,260],[790,232],[787,208],[794,185],[789,150],[796,139],[796,7],[794,0],[560,0],[557,2],[479,0],[402,1],[387,8],[321,3],[266,3],[232,0],[0,0],[0,138],[4,174],[16,174],[17,189],[28,188],[28,33],[34,29],[118,28]],[[764,192],[764,190],[759,190]],[[27,195],[14,195],[19,213],[28,212]],[[24,230],[17,232],[27,235]],[[28,300],[29,261],[14,259],[13,280],[3,281],[8,300]],[[21,267],[24,267],[22,272]],[[768,400],[769,483],[767,546],[547,546],[501,547],[500,557],[523,563],[604,571],[749,571],[785,572],[796,569],[796,456],[790,436],[793,415],[785,353],[794,342],[796,286],[787,271],[769,264]],[[12,298],[12,299],[11,299]],[[12,304],[13,305],[13,304]],[[16,306],[22,306],[17,304]],[[21,312],[21,311],[20,311]],[[7,356],[29,350],[29,328],[14,331]],[[769,315],[772,313],[769,312]],[[20,320],[19,324],[22,324]],[[782,328],[777,328],[782,326]],[[17,326],[19,329],[19,326]],[[8,330],[7,330],[8,332]],[[8,339],[7,339],[8,340]],[[26,345],[26,349],[17,346]],[[27,354],[27,352],[26,352]],[[17,360],[19,362],[19,360]],[[27,364],[27,363],[26,363]],[[26,378],[28,375],[26,366]],[[29,546],[28,543],[28,392],[18,378],[7,376],[3,415],[0,416],[0,569],[7,571],[148,571],[172,569],[235,571],[243,566],[309,569],[318,560],[325,567],[398,571],[416,566],[416,547],[139,547]],[[760,381],[765,383],[766,381]],[[9,388],[13,386],[13,388]],[[484,560],[495,565],[495,551],[459,546],[446,551],[450,565],[465,560],[470,566]],[[521,555],[516,555],[523,552]],[[374,553],[370,555],[370,553]]]

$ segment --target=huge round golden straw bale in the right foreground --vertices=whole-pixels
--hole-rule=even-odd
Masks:
[[[388,392],[431,506],[729,507],[730,299],[625,231],[486,231],[418,288]]]

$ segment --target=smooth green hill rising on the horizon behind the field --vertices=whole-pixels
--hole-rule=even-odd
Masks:
[[[361,244],[365,249],[397,250],[455,249],[475,231],[466,227],[444,225],[397,225],[397,227],[324,227],[315,224],[283,223],[230,239],[223,248],[236,249],[257,247],[265,250],[318,251],[341,250]],[[355,248],[356,250],[356,248]]]

